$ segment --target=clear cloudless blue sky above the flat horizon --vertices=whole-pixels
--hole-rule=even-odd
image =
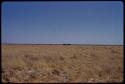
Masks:
[[[123,44],[123,3],[3,2],[2,43]]]

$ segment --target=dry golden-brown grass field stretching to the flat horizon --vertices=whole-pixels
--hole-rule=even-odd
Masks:
[[[123,46],[2,45],[2,82],[123,81]]]

